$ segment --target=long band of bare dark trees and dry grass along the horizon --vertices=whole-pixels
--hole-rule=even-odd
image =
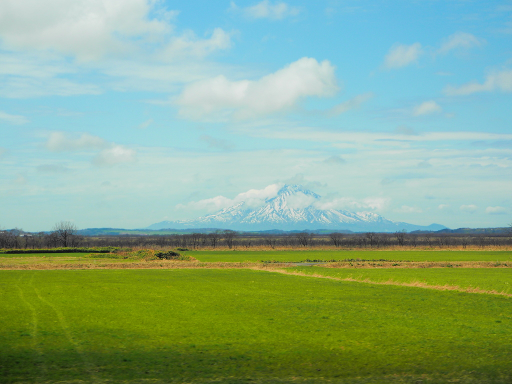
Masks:
[[[512,231],[512,226],[511,226]],[[81,236],[75,224],[61,221],[51,232],[27,233],[14,228],[0,228],[0,248],[37,249],[56,247],[158,247],[186,249],[251,248],[480,248],[512,246],[512,232],[501,234],[407,233],[397,231],[317,234],[250,234],[229,229],[210,233],[152,235]]]

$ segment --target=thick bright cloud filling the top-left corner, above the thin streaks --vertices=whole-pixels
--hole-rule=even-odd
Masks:
[[[0,36],[14,50],[50,50],[81,60],[132,49],[132,39],[158,38],[172,30],[172,12],[149,0],[4,0]],[[160,18],[148,18],[150,12]]]

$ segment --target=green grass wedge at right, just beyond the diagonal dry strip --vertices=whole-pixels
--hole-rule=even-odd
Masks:
[[[393,280],[400,283],[421,282],[429,285],[452,285],[512,293],[512,270],[508,268],[414,268],[414,269],[344,269],[323,267],[286,268],[290,272],[321,274],[339,279],[369,279],[374,282]]]

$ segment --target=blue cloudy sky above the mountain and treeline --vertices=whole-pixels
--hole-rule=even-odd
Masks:
[[[512,218],[512,1],[0,2],[0,226],[142,228],[285,183]]]

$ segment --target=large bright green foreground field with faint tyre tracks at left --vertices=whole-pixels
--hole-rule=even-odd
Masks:
[[[0,271],[0,308],[2,383],[512,380],[512,300],[493,295],[252,270],[35,270]]]

